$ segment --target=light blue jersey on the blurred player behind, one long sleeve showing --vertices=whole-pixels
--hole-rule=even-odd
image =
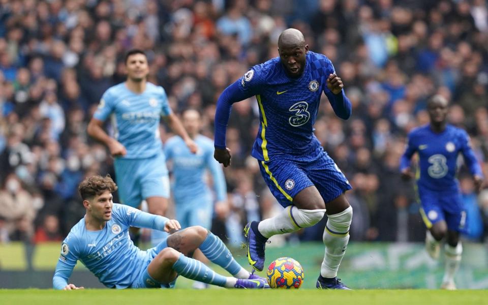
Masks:
[[[198,135],[194,139],[198,146],[196,154],[192,154],[185,141],[174,136],[164,144],[164,153],[168,161],[173,163],[173,196],[177,201],[195,198],[210,192],[205,182],[205,172],[210,170],[217,200],[225,200],[226,185],[221,165],[214,159],[214,142],[207,137]]]

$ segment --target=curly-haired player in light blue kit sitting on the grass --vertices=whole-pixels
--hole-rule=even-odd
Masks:
[[[81,182],[79,192],[86,214],[63,241],[52,279],[54,289],[83,288],[68,284],[78,260],[109,288],[171,288],[178,275],[227,288],[269,288],[264,279],[234,260],[220,238],[200,226],[177,231],[158,246],[140,250],[129,237],[130,226],[170,232],[179,230],[180,225],[176,220],[113,203],[116,189],[110,176],[92,176]],[[197,248],[234,277],[221,276],[190,258]]]

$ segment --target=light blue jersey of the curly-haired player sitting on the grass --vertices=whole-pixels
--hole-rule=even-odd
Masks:
[[[162,231],[168,221],[136,208],[114,203],[112,219],[100,231],[88,231],[82,218],[71,229],[61,246],[61,255],[53,277],[53,288],[68,284],[76,262],[85,265],[102,284],[109,288],[127,288],[139,275],[144,262],[150,259],[132,242],[129,227]]]

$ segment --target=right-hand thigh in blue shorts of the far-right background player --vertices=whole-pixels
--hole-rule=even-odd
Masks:
[[[466,210],[459,191],[445,192],[440,198],[447,228],[451,231],[466,231]]]

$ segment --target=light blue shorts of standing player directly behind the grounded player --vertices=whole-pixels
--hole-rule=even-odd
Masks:
[[[148,197],[169,198],[166,159],[161,153],[146,159],[121,159],[114,162],[120,203],[139,207]]]

